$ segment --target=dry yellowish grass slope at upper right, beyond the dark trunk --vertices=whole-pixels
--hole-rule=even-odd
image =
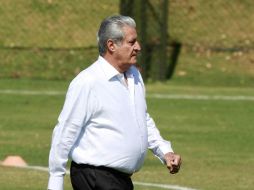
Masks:
[[[173,39],[197,46],[239,47],[253,42],[251,0],[171,1],[168,26]]]

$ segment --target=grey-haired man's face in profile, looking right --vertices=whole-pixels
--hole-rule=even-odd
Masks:
[[[119,67],[126,68],[126,70],[137,63],[137,54],[141,50],[140,44],[137,41],[137,32],[135,28],[124,26],[123,32],[125,38],[122,43],[116,45],[115,56]]]

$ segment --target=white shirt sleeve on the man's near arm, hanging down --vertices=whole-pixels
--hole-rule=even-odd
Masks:
[[[55,126],[49,153],[48,189],[63,190],[66,164],[71,148],[92,115],[89,102],[91,88],[81,82],[72,82],[65,99],[62,112]]]

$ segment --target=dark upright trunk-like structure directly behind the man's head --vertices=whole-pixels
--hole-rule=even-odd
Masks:
[[[120,13],[135,19],[141,43],[139,64],[145,80],[172,77],[181,44],[172,43],[169,55],[168,0],[121,0]],[[176,49],[174,49],[176,47]],[[171,58],[171,59],[170,59]]]

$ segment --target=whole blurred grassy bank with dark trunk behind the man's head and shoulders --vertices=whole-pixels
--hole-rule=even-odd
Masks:
[[[0,77],[71,79],[97,59],[101,20],[135,18],[146,80],[253,86],[252,0],[0,2]]]

